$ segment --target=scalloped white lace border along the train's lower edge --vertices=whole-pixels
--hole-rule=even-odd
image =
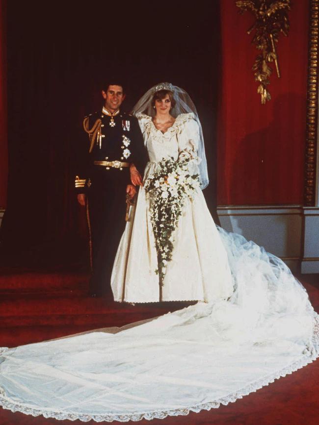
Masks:
[[[314,330],[314,340],[316,339],[316,344],[318,345],[318,331],[319,331],[319,320],[318,316],[316,318],[317,325]],[[6,349],[4,349],[5,351]],[[316,360],[317,357],[319,357],[319,353],[315,350],[305,350],[308,353],[308,356],[303,356],[299,360],[296,360],[292,362],[289,366],[286,366],[279,372],[274,372],[262,379],[259,379],[258,381],[251,383],[244,388],[240,389],[236,393],[229,394],[227,397],[224,397],[223,399],[219,400],[213,400],[209,403],[204,404],[197,404],[195,406],[187,407],[187,408],[181,408],[176,410],[167,410],[167,411],[155,411],[155,412],[149,412],[149,413],[136,413],[132,415],[88,415],[88,414],[80,414],[80,413],[65,413],[65,412],[55,412],[50,409],[40,409],[40,408],[31,408],[27,407],[24,404],[19,404],[14,402],[13,400],[10,400],[9,398],[4,396],[4,391],[0,388],[0,406],[2,406],[4,409],[11,410],[12,412],[22,412],[26,415],[32,415],[32,416],[40,416],[43,415],[45,418],[54,418],[57,420],[65,420],[68,419],[70,421],[76,421],[79,419],[81,422],[89,422],[91,420],[95,422],[138,422],[142,419],[146,419],[148,421],[152,419],[165,419],[167,416],[186,416],[190,412],[198,413],[201,410],[211,410],[218,408],[221,404],[227,405],[228,403],[233,403],[238,399],[242,399],[243,396],[247,396],[250,393],[256,392],[260,388],[267,386],[268,384],[274,382],[275,379],[279,379],[281,377],[284,377],[286,375],[292,374],[292,372],[297,371],[298,369],[303,368],[304,366],[307,366],[309,363],[312,363],[314,360]],[[314,352],[315,351],[315,352]],[[1,349],[0,349],[1,352]],[[311,355],[309,356],[309,353],[311,352]]]

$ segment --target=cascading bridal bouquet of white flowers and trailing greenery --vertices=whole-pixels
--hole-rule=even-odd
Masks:
[[[160,285],[163,284],[167,262],[173,251],[173,232],[187,198],[192,199],[199,187],[199,175],[191,175],[189,162],[197,159],[186,157],[175,161],[173,158],[162,159],[159,171],[151,174],[145,182],[144,189],[150,198],[150,216],[158,255]]]

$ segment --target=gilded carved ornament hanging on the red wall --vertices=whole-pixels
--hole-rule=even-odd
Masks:
[[[251,34],[255,31],[252,44],[261,50],[261,54],[256,56],[252,69],[255,81],[260,83],[257,92],[261,95],[263,104],[271,99],[267,90],[272,73],[269,66],[271,62],[275,63],[277,75],[280,77],[276,43],[280,33],[288,35],[290,5],[290,0],[236,0],[240,14],[250,10],[256,17],[254,25],[248,29],[247,33]]]

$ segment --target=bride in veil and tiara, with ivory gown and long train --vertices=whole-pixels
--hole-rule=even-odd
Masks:
[[[152,107],[150,100],[160,89],[173,93],[177,104],[180,100],[174,116],[173,97],[160,96],[173,106],[169,123],[163,123],[160,114],[153,122],[145,109],[145,100]],[[161,286],[163,300],[199,302],[122,328],[0,349],[3,408],[83,422],[187,415],[236,401],[319,355],[319,320],[306,290],[279,258],[240,235],[216,230],[196,178],[189,177],[195,173],[201,187],[207,184],[201,127],[193,105],[187,109],[189,98],[167,83],[146,95],[135,112],[151,161],[114,265],[115,299],[159,300]],[[184,178],[189,191],[167,238],[172,250],[166,240],[171,256],[163,262],[166,250],[151,236],[152,230],[157,233],[152,218],[158,203],[148,197],[153,187],[149,182],[158,186],[156,176],[166,154],[173,158],[170,177]],[[171,182],[167,178],[167,185]],[[173,186],[172,194],[182,196]],[[140,243],[141,253],[134,257],[130,243]],[[157,261],[163,266],[158,275]],[[181,261],[180,268],[175,261]]]

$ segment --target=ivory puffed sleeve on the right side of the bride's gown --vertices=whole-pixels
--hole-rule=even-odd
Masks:
[[[180,132],[178,135],[178,146],[180,157],[190,156],[197,157],[199,126],[192,118],[193,114],[185,114],[181,118]]]

